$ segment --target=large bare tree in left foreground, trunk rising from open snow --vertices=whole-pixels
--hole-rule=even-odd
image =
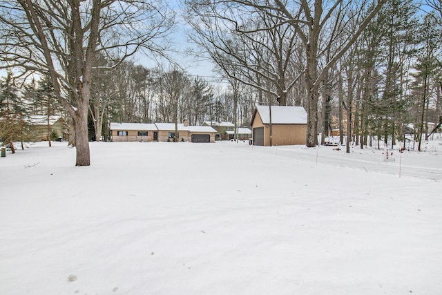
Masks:
[[[162,55],[174,15],[158,0],[17,0],[0,6],[1,65],[42,73],[75,125],[77,166],[90,164],[88,109],[97,53]]]

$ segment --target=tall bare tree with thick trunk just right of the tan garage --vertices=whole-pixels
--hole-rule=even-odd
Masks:
[[[329,69],[336,64],[347,50],[356,42],[359,35],[365,30],[374,16],[381,10],[387,0],[376,1],[369,13],[365,9],[370,1],[334,1],[334,3],[323,3],[322,0],[307,1],[301,0],[299,5],[292,8],[290,12],[285,3],[276,0],[279,11],[285,17],[281,21],[287,21],[298,32],[302,44],[305,47],[306,66],[305,80],[307,86],[307,146],[316,146],[318,143],[318,97],[319,87]],[[331,5],[326,5],[331,4]],[[323,35],[323,32],[330,27],[338,27],[345,36],[339,34]],[[356,28],[354,24],[357,24]],[[352,30],[347,30],[347,26]],[[327,37],[325,37],[327,36]],[[333,46],[334,54],[327,64],[319,67],[318,60],[328,53],[328,48]],[[348,135],[347,135],[348,136]]]

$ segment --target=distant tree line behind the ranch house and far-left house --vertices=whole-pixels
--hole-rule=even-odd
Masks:
[[[238,126],[250,124],[255,99],[250,91],[246,97],[247,87],[243,87],[240,93],[239,120],[234,121],[233,94],[222,85],[213,86],[206,79],[178,68],[169,71],[149,69],[129,60],[104,70],[111,61],[102,57],[100,62],[102,64],[93,70],[88,108],[89,140],[108,140],[110,122],[180,123],[188,120],[193,125],[204,121],[236,122]],[[63,115],[69,118],[47,76],[38,80],[30,79],[19,86],[9,74],[1,80],[0,91],[1,117],[8,117],[6,113],[9,113],[12,120],[13,114],[15,120],[20,122],[17,126],[28,124],[26,117],[30,115],[48,118]],[[6,125],[6,121],[4,123]],[[8,126],[12,127],[11,122],[8,122]],[[30,130],[29,127],[27,130]],[[11,139],[3,136],[5,139],[1,142],[21,141],[24,138],[19,135],[22,133],[19,129],[4,133],[10,134]]]

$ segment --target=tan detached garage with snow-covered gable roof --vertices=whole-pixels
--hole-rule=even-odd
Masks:
[[[269,106],[257,106],[251,120],[253,144],[270,145]],[[306,144],[307,112],[302,106],[271,106],[272,144]]]

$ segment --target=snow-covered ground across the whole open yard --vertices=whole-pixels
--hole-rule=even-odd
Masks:
[[[0,158],[0,294],[442,294],[442,142],[46,145]]]

